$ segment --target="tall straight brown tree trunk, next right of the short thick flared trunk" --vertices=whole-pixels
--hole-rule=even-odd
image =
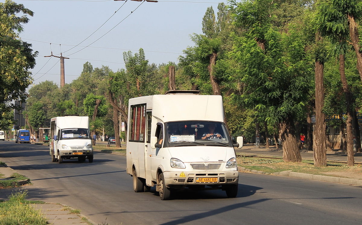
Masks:
[[[316,125],[314,130],[314,166],[327,165],[327,148],[325,146],[324,113],[324,81],[323,67],[321,61],[315,62],[315,104],[316,104]]]

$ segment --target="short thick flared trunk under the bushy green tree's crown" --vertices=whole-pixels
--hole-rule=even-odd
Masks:
[[[278,124],[279,138],[283,143],[283,160],[285,162],[301,162],[298,144],[295,138],[295,126],[291,118],[287,117]]]

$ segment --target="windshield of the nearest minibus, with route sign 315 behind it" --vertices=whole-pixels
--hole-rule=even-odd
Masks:
[[[165,123],[169,146],[180,143],[230,146],[230,137],[222,122],[177,121]]]

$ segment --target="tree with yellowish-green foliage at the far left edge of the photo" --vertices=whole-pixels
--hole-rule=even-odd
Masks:
[[[21,13],[24,15],[18,16]],[[31,44],[18,38],[23,24],[29,22],[27,15],[33,16],[33,12],[22,4],[0,3],[0,112],[14,108],[12,100],[25,101],[25,89],[32,82],[29,69],[34,68],[38,52],[33,53]]]

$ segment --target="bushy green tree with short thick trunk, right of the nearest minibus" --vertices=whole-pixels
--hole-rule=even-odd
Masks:
[[[245,84],[239,100],[258,117],[278,124],[283,160],[298,162],[294,122],[304,112],[312,69],[300,22],[288,23],[281,33],[273,26],[276,7],[271,0],[237,4],[234,16],[243,36],[235,37],[232,57],[239,62],[237,79]]]

